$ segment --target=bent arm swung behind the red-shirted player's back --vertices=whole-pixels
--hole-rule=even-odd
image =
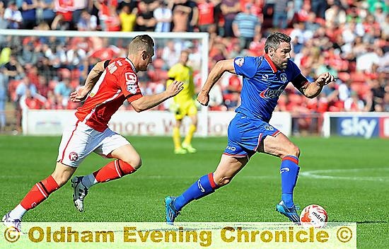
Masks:
[[[110,64],[110,60],[96,63],[86,77],[85,84],[77,91],[70,93],[70,100],[73,102],[81,102],[85,100],[86,96],[92,90],[93,86],[95,86],[96,82],[100,78],[101,74],[103,74],[103,71],[108,66],[108,64]]]

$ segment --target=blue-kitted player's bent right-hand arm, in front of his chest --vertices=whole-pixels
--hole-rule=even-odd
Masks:
[[[299,74],[292,83],[307,98],[315,98],[323,90],[324,86],[334,81],[336,81],[335,77],[327,72],[320,74],[314,82],[309,82],[306,77]]]

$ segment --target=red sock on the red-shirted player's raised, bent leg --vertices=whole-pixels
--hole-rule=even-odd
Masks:
[[[100,170],[93,172],[93,175],[98,183],[104,183],[134,173],[135,170],[129,163],[117,159],[100,168]]]

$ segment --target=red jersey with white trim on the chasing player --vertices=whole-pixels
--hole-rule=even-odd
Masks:
[[[112,59],[76,116],[89,127],[103,132],[124,100],[142,97],[134,64],[127,58]]]

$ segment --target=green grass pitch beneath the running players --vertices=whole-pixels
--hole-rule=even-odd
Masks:
[[[357,222],[358,248],[387,248],[389,141],[339,137],[292,140],[301,149],[301,174],[333,170],[320,174],[346,177],[301,175],[295,202],[301,208],[320,204],[330,222]],[[0,137],[1,216],[37,181],[52,173],[59,141],[59,137]],[[67,183],[28,212],[24,221],[164,221],[163,198],[179,195],[200,176],[212,172],[226,146],[226,138],[196,138],[193,145],[197,154],[174,155],[170,137],[129,137],[129,141],[141,154],[143,166],[134,175],[93,187],[86,197],[86,212],[75,209]],[[93,154],[76,175],[91,173],[105,163],[108,160]],[[274,211],[281,191],[279,163],[273,156],[256,154],[230,185],[192,202],[177,221],[287,221]]]

